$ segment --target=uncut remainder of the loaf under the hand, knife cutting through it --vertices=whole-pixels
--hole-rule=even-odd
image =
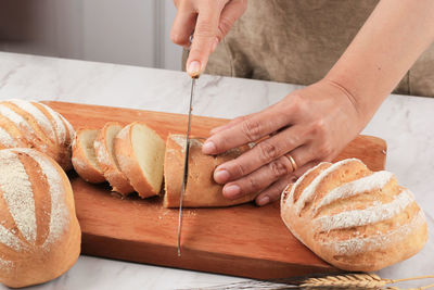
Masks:
[[[202,153],[204,140],[203,138],[190,139],[189,176],[187,189],[182,198],[182,206],[229,206],[254,200],[256,193],[235,200],[226,199],[222,194],[222,186],[215,182],[213,177],[214,171],[218,165],[240,156],[244,149],[230,150],[216,156],[205,155]],[[184,147],[186,136],[169,135],[167,137],[164,161],[165,207],[179,207],[179,198],[182,188]]]

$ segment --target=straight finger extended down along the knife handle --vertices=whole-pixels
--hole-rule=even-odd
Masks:
[[[206,64],[214,46],[218,43],[218,22],[220,11],[207,9],[197,15],[194,29],[193,42],[191,43],[189,58],[187,60],[187,73],[194,77],[205,71]]]

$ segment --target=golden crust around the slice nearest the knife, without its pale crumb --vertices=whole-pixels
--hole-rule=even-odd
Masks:
[[[139,197],[145,199],[158,196],[161,193],[161,185],[158,186],[157,190],[155,190],[148,181],[140,166],[140,161],[136,156],[132,144],[132,129],[135,126],[144,126],[148,128],[148,126],[141,122],[135,122],[124,127],[115,138],[115,155],[119,164],[120,171],[127,176]],[[154,134],[157,138],[161,139],[161,137],[155,131]],[[163,172],[161,174],[163,175]]]

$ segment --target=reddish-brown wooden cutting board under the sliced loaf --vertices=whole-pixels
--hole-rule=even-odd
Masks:
[[[163,138],[184,134],[187,116],[107,106],[46,102],[78,128],[105,122],[143,121]],[[193,116],[192,134],[208,135],[227,119]],[[384,168],[384,140],[359,136],[336,160],[358,157],[371,169]],[[177,255],[178,210],[162,207],[161,198],[120,199],[106,184],[91,185],[69,174],[82,230],[82,254],[139,263],[271,279],[337,272],[296,240],[283,225],[279,203],[225,209],[186,209],[182,255]]]

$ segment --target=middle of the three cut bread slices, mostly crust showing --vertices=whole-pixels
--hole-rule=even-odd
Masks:
[[[108,122],[99,131],[93,142],[98,163],[104,173],[105,179],[110,182],[113,191],[120,194],[128,194],[135,191],[127,176],[120,171],[114,152],[114,140],[123,126],[116,122]]]

